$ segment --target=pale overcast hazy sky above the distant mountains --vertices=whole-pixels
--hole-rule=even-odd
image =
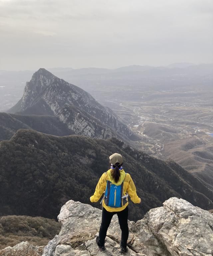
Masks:
[[[212,0],[0,0],[0,69],[213,62]]]

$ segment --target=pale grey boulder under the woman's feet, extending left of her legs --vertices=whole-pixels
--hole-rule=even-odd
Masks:
[[[121,231],[116,215],[113,216],[107,231],[106,251],[100,252],[98,250],[95,238],[99,232],[101,215],[102,211],[91,205],[82,204],[73,200],[68,201],[61,208],[58,216],[58,220],[62,223],[62,229],[58,235],[55,256],[87,255],[87,253],[91,255],[119,255]],[[131,229],[134,227],[135,223],[129,221],[128,225]],[[136,255],[137,251],[141,253],[146,252],[142,243],[131,244],[135,239],[135,235],[130,232],[128,239],[128,244],[130,245],[128,255]],[[72,254],[68,254],[68,251],[71,250],[70,248],[75,249],[72,250]]]

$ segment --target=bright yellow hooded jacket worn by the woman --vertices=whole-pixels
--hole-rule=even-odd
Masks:
[[[106,173],[102,174],[102,176],[96,186],[96,191],[95,191],[94,195],[92,197],[90,197],[90,201],[92,203],[98,202],[106,189],[107,181],[110,181],[113,184],[115,184],[116,186],[119,186],[123,182],[123,195],[125,195],[125,193],[127,192],[133,203],[135,203],[135,204],[140,203],[141,200],[137,196],[136,188],[135,188],[134,182],[133,182],[130,174],[128,174],[128,173],[125,174],[123,169],[120,170],[120,178],[119,178],[119,181],[116,183],[113,180],[113,178],[111,177],[111,171],[112,171],[112,169],[109,169]],[[127,201],[128,201],[128,199],[127,199]],[[128,205],[128,202],[125,205],[123,205],[122,207],[113,208],[113,207],[107,206],[103,200],[102,205],[108,212],[119,212],[126,208],[126,206]]]

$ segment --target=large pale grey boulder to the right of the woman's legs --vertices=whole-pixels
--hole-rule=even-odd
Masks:
[[[170,198],[135,224],[148,255],[213,255],[213,216],[189,202]]]

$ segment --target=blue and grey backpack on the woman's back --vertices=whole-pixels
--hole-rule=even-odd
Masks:
[[[126,177],[126,173],[125,173],[125,177]],[[119,186],[116,186],[110,181],[107,181],[107,187],[106,187],[104,198],[103,198],[107,206],[114,207],[114,208],[122,207],[127,203],[127,200],[126,200],[127,197],[128,197],[128,194],[123,196],[123,182]]]

